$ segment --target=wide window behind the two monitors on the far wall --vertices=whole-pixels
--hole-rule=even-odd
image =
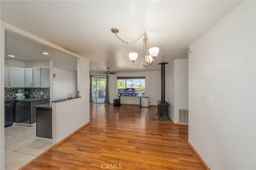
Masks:
[[[145,77],[117,77],[117,90],[134,88],[136,94],[145,95]]]

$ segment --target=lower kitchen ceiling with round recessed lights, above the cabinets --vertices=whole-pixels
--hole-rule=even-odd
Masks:
[[[44,55],[42,52],[48,52]],[[15,55],[16,57],[8,57]],[[7,30],[5,32],[5,58],[23,61],[53,61],[54,67],[77,71],[77,58],[32,39]]]

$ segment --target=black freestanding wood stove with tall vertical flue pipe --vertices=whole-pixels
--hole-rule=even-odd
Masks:
[[[165,101],[165,65],[168,63],[159,63],[161,65],[161,100],[157,101],[157,114],[160,117],[167,117],[169,120],[170,104]]]

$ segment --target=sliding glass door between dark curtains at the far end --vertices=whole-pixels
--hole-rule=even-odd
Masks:
[[[104,103],[106,94],[106,76],[92,77],[92,101]]]

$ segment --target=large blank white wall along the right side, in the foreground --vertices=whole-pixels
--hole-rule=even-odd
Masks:
[[[255,1],[245,1],[189,53],[188,140],[212,170],[256,169]]]

